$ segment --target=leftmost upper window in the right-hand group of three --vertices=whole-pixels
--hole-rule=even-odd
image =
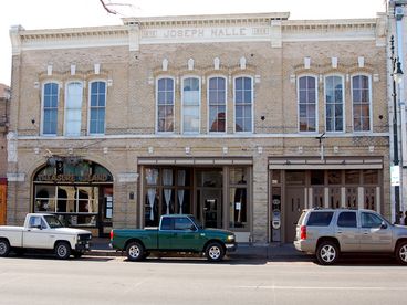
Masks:
[[[316,132],[316,78],[299,78],[299,128],[300,132]]]

